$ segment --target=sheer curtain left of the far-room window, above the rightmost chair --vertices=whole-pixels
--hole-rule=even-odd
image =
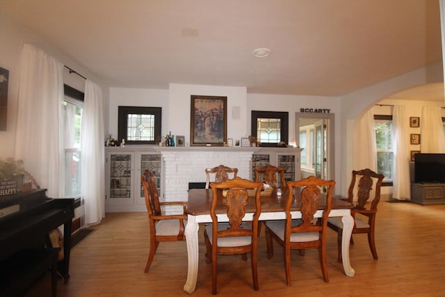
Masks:
[[[374,115],[371,109],[357,120],[354,127],[353,169],[369,168],[377,171],[377,148],[375,147]]]

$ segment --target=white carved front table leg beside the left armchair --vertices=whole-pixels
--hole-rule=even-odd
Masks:
[[[195,291],[197,280],[197,267],[198,267],[198,242],[197,232],[200,226],[196,222],[196,216],[188,215],[186,225],[186,241],[187,241],[187,254],[188,254],[188,271],[187,282],[184,284],[184,291],[188,294],[192,294]]]

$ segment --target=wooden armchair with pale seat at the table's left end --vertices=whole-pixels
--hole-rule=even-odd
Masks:
[[[187,222],[187,215],[184,213],[165,215],[161,211],[161,207],[179,205],[185,211],[187,202],[159,202],[154,176],[148,170],[145,170],[144,175],[140,177],[140,182],[144,189],[150,228],[149,255],[144,271],[147,273],[152,264],[154,253],[161,241],[181,241],[185,239],[184,228]]]

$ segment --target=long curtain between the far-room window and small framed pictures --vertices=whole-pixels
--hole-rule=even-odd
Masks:
[[[397,200],[410,200],[411,198],[410,154],[408,154],[410,144],[407,139],[407,122],[405,106],[395,105],[392,115],[394,152],[392,198]]]

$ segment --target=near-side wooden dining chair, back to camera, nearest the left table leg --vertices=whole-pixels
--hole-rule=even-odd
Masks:
[[[212,201],[210,216],[212,224],[204,230],[207,249],[207,264],[211,262],[211,291],[216,294],[217,255],[251,255],[253,289],[258,290],[257,232],[261,214],[261,182],[235,177],[225,182],[211,183]],[[248,190],[254,195],[249,196]],[[221,223],[216,214],[218,205],[227,206],[228,223]],[[254,207],[252,218],[245,217],[245,206]],[[220,214],[218,214],[220,215]],[[251,220],[251,225],[247,223]],[[247,259],[247,258],[246,258]]]

